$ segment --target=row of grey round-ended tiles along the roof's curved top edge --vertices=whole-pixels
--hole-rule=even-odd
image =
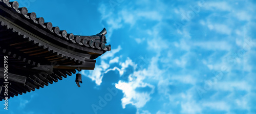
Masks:
[[[19,8],[18,2],[10,2],[9,0],[0,0],[9,7],[10,11],[16,11],[18,16],[28,20],[31,24],[39,27],[47,33],[53,34],[64,41],[80,45],[83,48],[92,48],[94,50],[110,51],[111,45],[105,45],[105,28],[98,34],[93,36],[79,36],[72,33],[68,33],[66,30],[60,30],[59,27],[53,27],[51,22],[45,22],[44,17],[37,17],[35,12],[28,13],[26,7]]]

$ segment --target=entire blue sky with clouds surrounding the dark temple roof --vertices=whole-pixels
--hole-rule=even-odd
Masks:
[[[80,88],[72,75],[1,113],[256,113],[254,1],[17,2],[68,33],[106,28],[112,50]]]

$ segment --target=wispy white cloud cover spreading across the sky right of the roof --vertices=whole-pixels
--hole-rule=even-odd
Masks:
[[[122,76],[128,71],[128,66],[134,69],[129,73],[127,81],[119,80],[116,83],[116,88],[121,89],[124,94],[121,99],[123,108],[127,104],[133,104],[137,113],[152,113],[145,107],[154,108],[150,103],[157,102],[161,106],[158,114],[208,111],[234,113],[233,109],[239,110],[237,106],[246,109],[248,113],[253,111],[250,108],[250,103],[253,104],[251,98],[245,96],[254,95],[255,83],[250,80],[254,79],[252,55],[255,49],[250,48],[250,52],[244,52],[243,57],[236,57],[238,52],[233,52],[243,49],[243,38],[255,37],[252,32],[252,25],[255,25],[252,14],[255,11],[246,7],[254,3],[205,1],[205,6],[200,7],[200,13],[196,13],[189,6],[198,5],[200,1],[132,2],[134,1],[127,1],[122,4],[122,8],[109,14],[106,14],[108,8],[104,6],[105,9],[101,12],[102,20],[108,21],[106,24],[113,30],[129,28],[126,31],[130,33],[127,38],[138,44],[131,43],[134,47],[130,50],[137,52],[137,47],[143,46],[146,48],[140,49],[150,55],[146,60],[147,65],[141,65],[136,58],[130,57],[132,55],[118,56],[116,50],[101,57],[106,60],[116,54],[109,63],[119,63],[120,66],[109,67],[107,72],[117,70]],[[194,18],[177,30],[173,26],[177,16],[187,14],[190,10],[195,12]],[[237,62],[237,66],[230,64],[227,59],[232,54],[237,54],[232,59]],[[196,88],[204,87],[215,76],[214,73],[224,66],[226,70],[222,79],[212,84],[203,98],[198,97]],[[150,91],[136,91],[137,88],[146,86],[151,88]],[[245,94],[236,96],[236,91]],[[227,100],[228,97],[236,100],[231,102]]]

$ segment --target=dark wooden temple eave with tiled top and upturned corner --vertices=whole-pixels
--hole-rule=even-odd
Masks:
[[[78,69],[93,70],[94,59],[111,50],[111,45],[105,45],[105,34],[103,29],[93,36],[74,35],[28,13],[26,7],[19,8],[16,1],[0,0],[0,100],[6,97],[5,83],[9,99],[67,78]]]

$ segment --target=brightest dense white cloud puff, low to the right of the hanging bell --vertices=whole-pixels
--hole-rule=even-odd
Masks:
[[[125,69],[129,65],[131,65],[134,70],[137,67],[137,64],[135,64],[130,58],[127,58],[125,62],[120,62],[119,64],[122,66],[121,70],[119,69],[120,75],[121,75],[121,72],[123,73],[123,71],[125,71]],[[133,74],[129,75],[129,79],[130,79],[129,82],[119,81],[116,84],[116,88],[121,89],[124,93],[124,97],[121,99],[123,108],[125,108],[125,105],[127,104],[133,104],[137,108],[141,108],[146,104],[146,102],[148,102],[151,99],[150,95],[154,93],[155,86],[149,83],[143,82],[143,80],[145,79],[145,76],[142,76],[144,73],[142,72],[143,71],[135,71]],[[144,92],[139,93],[135,91],[137,87],[146,87],[146,86],[152,88],[150,93],[144,93]]]

